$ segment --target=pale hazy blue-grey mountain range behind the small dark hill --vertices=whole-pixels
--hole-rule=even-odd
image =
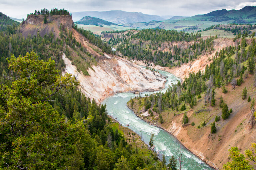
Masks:
[[[161,21],[164,18],[157,15],[148,15],[141,12],[125,12],[125,11],[85,11],[85,12],[73,12],[73,21],[79,21],[85,16],[91,16],[106,20],[115,24],[126,24],[126,23],[137,23],[137,22],[148,22],[148,21]]]

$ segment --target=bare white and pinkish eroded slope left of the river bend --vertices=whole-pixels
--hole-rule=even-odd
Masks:
[[[81,91],[97,103],[120,92],[142,92],[160,90],[165,85],[165,78],[157,72],[146,70],[130,61],[104,54],[107,59],[99,60],[97,66],[88,69],[90,76],[77,72],[76,66],[62,55],[66,69],[63,73],[71,73],[80,81]]]

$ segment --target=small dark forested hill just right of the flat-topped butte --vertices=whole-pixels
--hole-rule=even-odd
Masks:
[[[111,23],[99,18],[95,18],[95,17],[90,17],[90,16],[86,16],[83,17],[81,20],[76,22],[77,24],[83,24],[83,25],[117,25],[115,23]]]

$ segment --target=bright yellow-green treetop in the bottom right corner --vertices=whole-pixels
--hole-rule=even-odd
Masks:
[[[240,153],[237,147],[231,147],[229,153],[232,161],[224,164],[223,170],[252,170],[249,161],[245,159],[245,156]]]

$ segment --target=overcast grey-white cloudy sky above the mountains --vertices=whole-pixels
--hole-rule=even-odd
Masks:
[[[218,9],[256,6],[255,0],[0,0],[0,12],[26,19],[43,8],[65,8],[70,12],[123,10],[152,15],[193,16]]]

